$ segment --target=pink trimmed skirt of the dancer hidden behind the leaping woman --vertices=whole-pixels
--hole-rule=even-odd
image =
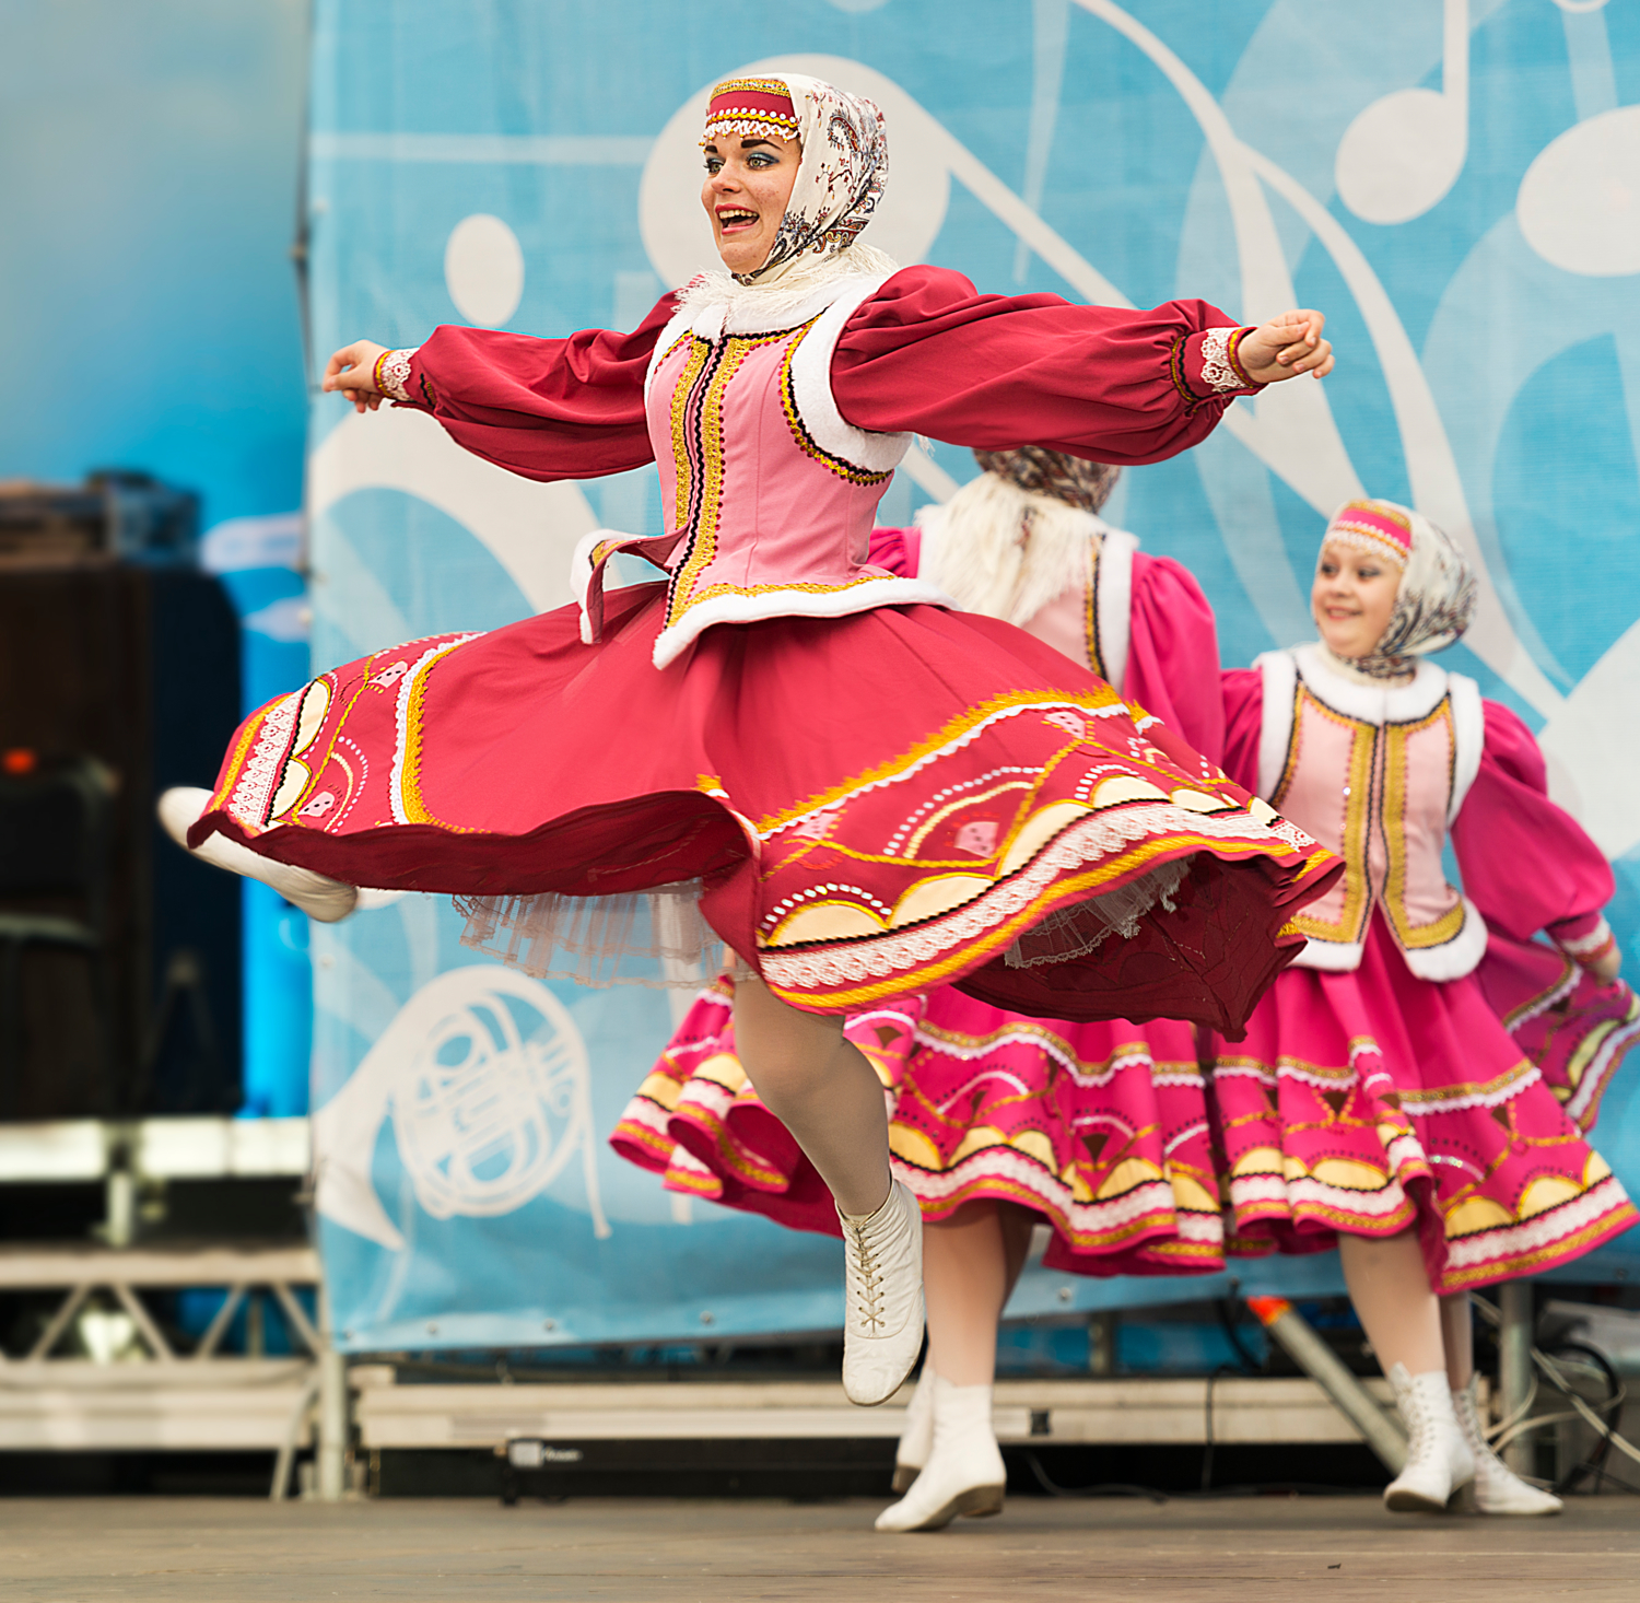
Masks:
[[[733,983],[702,993],[610,1137],[669,1190],[836,1234],[831,1196],[735,1052]],[[1079,1275],[1223,1267],[1215,1160],[1187,1024],[1071,1024],[940,989],[851,1014],[889,1099],[894,1173],[925,1219],[1030,1208]]]

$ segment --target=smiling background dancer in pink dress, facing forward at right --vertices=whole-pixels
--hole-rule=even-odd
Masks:
[[[1601,917],[1610,868],[1548,799],[1522,722],[1427,661],[1474,607],[1446,535],[1394,502],[1350,502],[1310,607],[1320,643],[1225,676],[1225,766],[1348,865],[1299,916],[1309,943],[1246,1039],[1217,1040],[1232,1250],[1338,1244],[1410,1434],[1389,1508],[1445,1508],[1473,1475],[1483,1513],[1555,1513],[1486,1444],[1468,1293],[1635,1222],[1583,1139],[1635,1037]],[[1442,868],[1448,832],[1461,891]],[[1527,955],[1538,930],[1565,957]],[[1573,968],[1581,980],[1532,996],[1533,970]]]

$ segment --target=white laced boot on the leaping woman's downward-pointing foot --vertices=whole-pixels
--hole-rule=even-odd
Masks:
[[[874,1408],[922,1352],[922,1209],[897,1180],[874,1214],[843,1222],[843,1390]]]

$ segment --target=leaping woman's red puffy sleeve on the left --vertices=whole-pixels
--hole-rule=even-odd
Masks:
[[[408,405],[474,456],[526,479],[592,479],[654,461],[643,379],[676,310],[663,295],[631,331],[536,340],[443,325],[410,356]]]

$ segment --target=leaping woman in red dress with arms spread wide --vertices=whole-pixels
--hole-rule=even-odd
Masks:
[[[469,939],[525,966],[608,897],[699,906],[740,965],[748,1070],[840,1213],[843,1378],[877,1403],[922,1340],[922,1232],[843,1016],[959,983],[1235,1029],[1338,873],[1104,681],[869,563],[877,500],[912,432],[989,446],[1005,417],[1151,461],[1332,354],[1312,312],[1240,328],[1199,300],[1120,312],[897,271],[858,240],[881,113],[828,84],[720,84],[702,144],[728,271],[635,331],[446,327],[325,374],[530,477],[658,459],[667,533],[582,541],[577,607],[320,674],[241,725],[213,794],[162,814],[317,917],[356,886],[467,897]],[[618,551],[667,582],[605,596]]]

